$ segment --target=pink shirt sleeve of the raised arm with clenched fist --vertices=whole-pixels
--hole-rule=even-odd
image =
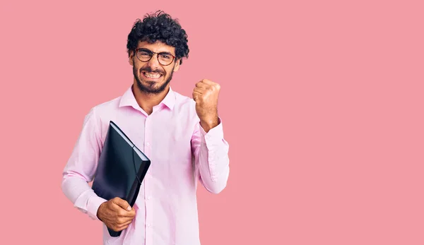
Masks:
[[[192,152],[196,168],[199,169],[200,181],[211,193],[220,193],[227,185],[230,174],[228,142],[223,136],[223,123],[219,118],[218,126],[208,133],[196,124],[192,136]]]

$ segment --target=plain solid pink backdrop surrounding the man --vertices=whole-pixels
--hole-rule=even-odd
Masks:
[[[112,2],[0,4],[1,244],[101,244],[61,171],[157,9],[189,35],[172,88],[222,87],[230,179],[199,189],[202,244],[424,244],[423,1]]]

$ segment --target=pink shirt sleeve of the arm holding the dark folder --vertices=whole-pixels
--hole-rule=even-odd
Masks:
[[[90,109],[83,121],[83,129],[62,173],[61,189],[73,206],[99,220],[97,211],[104,198],[97,196],[88,183],[93,181],[102,145],[100,119],[95,108]]]

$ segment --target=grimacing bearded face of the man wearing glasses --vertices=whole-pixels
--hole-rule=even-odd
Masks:
[[[151,51],[162,53],[159,56],[162,55],[163,58],[170,57],[172,59],[172,56],[166,56],[166,53],[175,56],[175,47],[168,46],[163,42],[155,42],[153,44],[139,42],[137,49],[141,49],[139,54],[147,54],[148,51]],[[139,56],[141,57],[141,55]],[[136,53],[131,52],[129,63],[133,66],[134,81],[137,87],[141,92],[149,94],[163,92],[172,79],[172,73],[178,71],[179,68],[179,59],[175,58],[171,64],[165,66],[158,61],[158,54],[153,54],[149,61],[141,61],[136,56]]]

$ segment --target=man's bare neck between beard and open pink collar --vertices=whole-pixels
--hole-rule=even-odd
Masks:
[[[132,91],[134,94],[134,97],[136,97],[137,104],[143,109],[147,114],[152,114],[153,107],[158,105],[167,95],[167,92],[169,92],[170,86],[167,85],[165,90],[158,94],[151,94],[147,92],[142,92],[139,90],[139,87],[137,87],[137,84],[134,83],[132,86]]]

